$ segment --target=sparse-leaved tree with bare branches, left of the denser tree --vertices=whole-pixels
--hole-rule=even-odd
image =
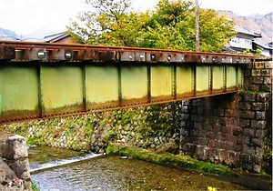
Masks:
[[[92,45],[137,46],[147,14],[131,12],[130,0],[86,0],[90,11],[66,26],[72,40]]]

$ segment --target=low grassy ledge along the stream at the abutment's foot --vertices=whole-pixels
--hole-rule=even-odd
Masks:
[[[272,177],[258,174],[240,172],[238,169],[231,169],[228,166],[211,164],[198,161],[190,156],[173,155],[169,153],[157,153],[147,149],[111,143],[107,146],[106,154],[134,157],[150,163],[163,166],[179,168],[204,176],[212,176],[220,180],[226,180],[241,186],[248,186],[251,189],[272,190]]]

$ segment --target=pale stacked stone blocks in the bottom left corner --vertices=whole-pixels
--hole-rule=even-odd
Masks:
[[[0,190],[31,190],[25,138],[0,130]]]

